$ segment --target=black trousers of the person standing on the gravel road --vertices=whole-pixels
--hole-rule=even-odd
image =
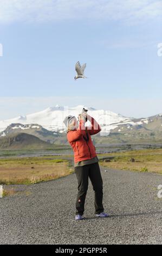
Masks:
[[[85,199],[88,190],[88,176],[92,182],[95,193],[94,207],[95,213],[103,212],[102,198],[103,198],[103,182],[100,172],[99,163],[86,164],[85,166],[75,167],[75,173],[78,182],[78,193],[76,199],[76,214],[83,215],[85,210]]]

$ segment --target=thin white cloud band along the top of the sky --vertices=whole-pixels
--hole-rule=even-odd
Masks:
[[[0,22],[161,19],[161,0],[1,0]]]

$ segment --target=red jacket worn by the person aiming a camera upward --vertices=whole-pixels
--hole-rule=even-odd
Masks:
[[[94,135],[101,131],[101,127],[93,117],[88,116],[92,126],[85,127],[85,121],[80,120],[79,127],[75,130],[70,130],[67,133],[67,139],[74,151],[74,162],[80,162],[87,159],[92,159],[96,156],[95,146],[93,145],[90,135]],[[89,140],[86,141],[86,130]]]

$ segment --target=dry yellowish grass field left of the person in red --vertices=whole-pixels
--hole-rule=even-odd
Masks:
[[[0,184],[34,184],[72,173],[69,161],[56,157],[0,159]]]

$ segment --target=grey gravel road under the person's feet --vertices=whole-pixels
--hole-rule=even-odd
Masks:
[[[85,220],[74,220],[75,173],[19,185],[19,193],[0,199],[0,244],[161,244],[162,175],[100,168],[108,218],[95,217],[89,180]]]

